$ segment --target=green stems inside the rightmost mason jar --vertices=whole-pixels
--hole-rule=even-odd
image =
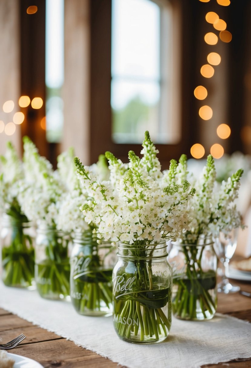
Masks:
[[[185,273],[173,278],[177,292],[173,298],[174,316],[181,319],[210,319],[216,311],[216,272],[203,271],[201,266],[204,246],[181,245]]]

